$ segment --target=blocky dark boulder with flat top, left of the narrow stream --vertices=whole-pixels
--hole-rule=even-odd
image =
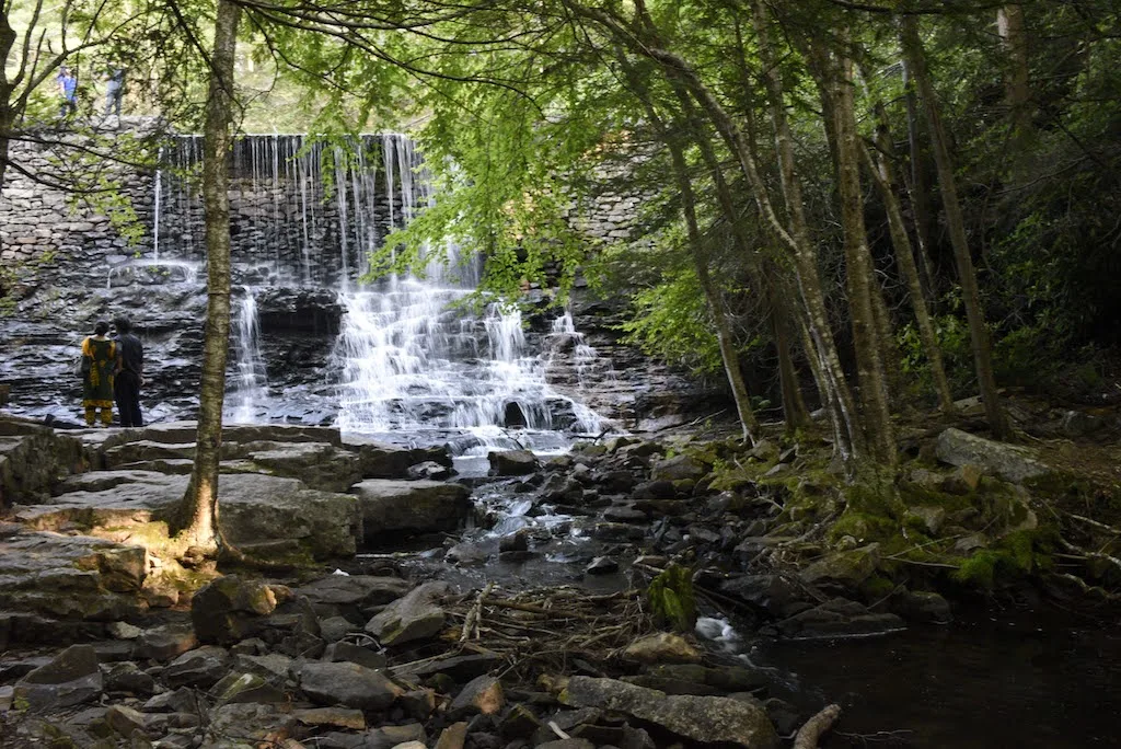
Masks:
[[[455,530],[471,511],[471,492],[457,483],[371,479],[353,489],[362,516],[362,538]]]

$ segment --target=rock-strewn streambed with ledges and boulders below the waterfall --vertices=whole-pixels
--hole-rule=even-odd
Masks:
[[[997,549],[1035,514],[1001,475],[1045,464],[984,463],[999,452],[986,445],[962,459],[969,436],[939,437],[941,466],[906,479],[923,491],[881,508],[915,534],[938,515],[923,508],[943,515],[900,549],[876,536],[868,497],[832,492],[805,442],[749,455],[622,437],[547,461],[494,453],[488,475],[453,475],[441,449],[231,427],[221,524],[249,566],[216,577],[159,551],[192,425],[0,426],[4,746],[770,747],[834,701],[854,713],[823,746],[1003,746],[963,719],[983,702],[947,704],[963,730],[932,732],[904,709],[938,690],[884,696],[891,644],[957,631],[943,594],[962,589],[934,565],[962,531]],[[973,514],[935,503],[972,497],[974,479]],[[1006,494],[1025,510],[990,501]],[[944,555],[896,564],[916,544]],[[924,647],[953,653],[945,638]],[[902,650],[908,667],[923,657]],[[960,679],[943,688],[989,683],[971,679],[975,663],[943,672]],[[1015,694],[1044,704],[1047,683]],[[1102,682],[1095,704],[1118,696]],[[1109,741],[1092,722],[1066,736],[1047,746]]]

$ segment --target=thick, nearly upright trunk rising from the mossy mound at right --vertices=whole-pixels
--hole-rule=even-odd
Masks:
[[[812,44],[817,44],[813,41]],[[883,349],[893,341],[887,321],[887,306],[880,295],[872,267],[864,225],[864,205],[860,188],[860,145],[856,133],[855,104],[852,92],[852,62],[831,59],[822,55],[824,77],[819,82],[830,95],[823,101],[833,111],[824,112],[833,121],[836,139],[837,192],[841,196],[841,223],[844,229],[845,280],[849,290],[849,314],[852,317],[853,346],[860,381],[860,399],[864,412],[864,429],[876,457],[886,464],[895,462],[896,447],[891,435],[891,407],[888,400],[887,370]]]

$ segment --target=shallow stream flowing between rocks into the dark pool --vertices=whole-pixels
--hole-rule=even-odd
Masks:
[[[482,473],[478,459],[464,456],[456,464],[474,477]],[[594,556],[614,546],[589,534],[594,518],[548,506],[531,509],[530,494],[519,493],[519,483],[476,487],[475,516],[484,521],[443,544],[454,540],[453,548],[476,552],[458,564],[444,562],[441,539],[433,538],[365,558],[393,556],[410,573],[465,588],[576,584],[603,593],[631,585],[622,555],[619,572],[584,573]],[[537,553],[525,561],[494,558],[499,538],[519,528],[529,530]],[[842,720],[823,749],[1121,746],[1121,631],[1048,609],[979,608],[956,616],[947,626],[912,625],[887,636],[834,640],[760,638],[712,618],[702,620],[698,634],[710,636],[714,650],[769,671],[770,695],[802,715],[840,703]]]

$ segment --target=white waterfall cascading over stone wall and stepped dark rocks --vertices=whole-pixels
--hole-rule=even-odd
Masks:
[[[204,261],[197,191],[183,178],[196,170],[198,148],[198,138],[182,138],[166,155],[157,194],[160,263]],[[527,342],[517,308],[494,303],[472,315],[456,305],[478,283],[479,258],[443,243],[424,249],[421,274],[361,280],[383,237],[432,204],[428,174],[408,138],[364,136],[358,148],[342,149],[299,136],[252,136],[235,142],[232,165],[233,277],[252,286],[231,358],[233,418],[291,419],[285,404],[318,399],[324,405],[308,410],[334,413],[345,432],[396,441],[466,435],[465,447],[559,447],[560,432],[600,428],[595,414],[546,382],[548,361],[532,350],[536,339]],[[334,342],[316,327],[314,343],[285,349],[286,363],[327,350],[321,382],[274,382],[285,397],[266,397],[262,337],[278,325],[314,327],[293,309],[308,297],[319,304],[327,289],[342,309]],[[555,334],[575,334],[565,320]],[[278,378],[284,369],[270,364]]]

